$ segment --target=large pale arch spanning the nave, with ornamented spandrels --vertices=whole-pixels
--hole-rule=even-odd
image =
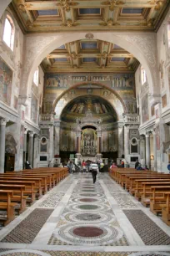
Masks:
[[[28,35],[26,38],[26,54],[23,67],[23,87],[21,95],[27,97],[31,90],[32,78],[37,66],[52,50],[72,41],[86,38],[86,33],[60,33]],[[102,33],[93,33],[93,38],[103,40]],[[157,47],[153,33],[117,33],[105,32],[105,41],[117,44],[133,54],[148,75],[150,93],[158,92],[158,64],[156,61]],[[27,90],[25,90],[27,88]]]

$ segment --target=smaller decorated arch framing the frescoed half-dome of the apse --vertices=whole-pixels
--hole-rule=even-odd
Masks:
[[[57,99],[53,102],[52,105],[52,111],[55,112],[56,107],[57,107],[57,103],[59,102],[59,100],[63,99],[65,95],[67,95],[67,93],[69,93],[70,91],[77,89],[80,85],[86,85],[89,84],[88,82],[83,82],[83,83],[78,83],[78,84],[74,84],[73,86],[71,86],[70,88],[68,88],[67,90],[63,91],[61,95],[59,95],[57,97]],[[117,92],[115,90],[112,90],[112,88],[108,87],[105,84],[101,84],[98,82],[92,82],[91,84],[96,84],[96,85],[100,85],[102,86],[102,88],[108,90],[111,92],[112,96],[116,96],[117,100],[119,100],[120,103],[120,107],[119,111],[117,111],[116,105],[114,105],[112,103],[112,99],[108,100],[107,97],[104,97],[103,95],[97,95],[97,94],[89,94],[89,95],[94,95],[97,96],[99,98],[102,98],[103,100],[106,100],[113,108],[113,110],[116,112],[117,114],[117,120],[121,120],[122,119],[122,114],[126,113],[126,106],[124,104],[124,101],[122,100],[121,96],[117,94]],[[60,112],[57,113],[57,119],[61,120],[61,116],[62,116],[62,111],[66,108],[66,106],[72,101],[77,99],[78,97],[83,96],[82,95],[75,95],[75,98],[70,98],[69,100],[67,100],[67,102],[65,102],[65,105],[62,106],[62,109]]]

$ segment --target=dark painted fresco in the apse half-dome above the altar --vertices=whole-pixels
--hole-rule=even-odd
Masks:
[[[75,122],[89,112],[94,118],[102,118],[102,123],[117,121],[115,110],[106,100],[90,95],[72,100],[62,111],[61,120]]]

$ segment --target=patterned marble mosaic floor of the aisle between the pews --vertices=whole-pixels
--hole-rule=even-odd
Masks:
[[[107,173],[71,174],[0,230],[0,255],[170,256],[170,228]]]

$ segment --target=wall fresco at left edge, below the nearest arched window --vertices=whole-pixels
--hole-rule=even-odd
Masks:
[[[7,105],[11,104],[11,92],[13,84],[13,71],[0,58],[0,100]]]

